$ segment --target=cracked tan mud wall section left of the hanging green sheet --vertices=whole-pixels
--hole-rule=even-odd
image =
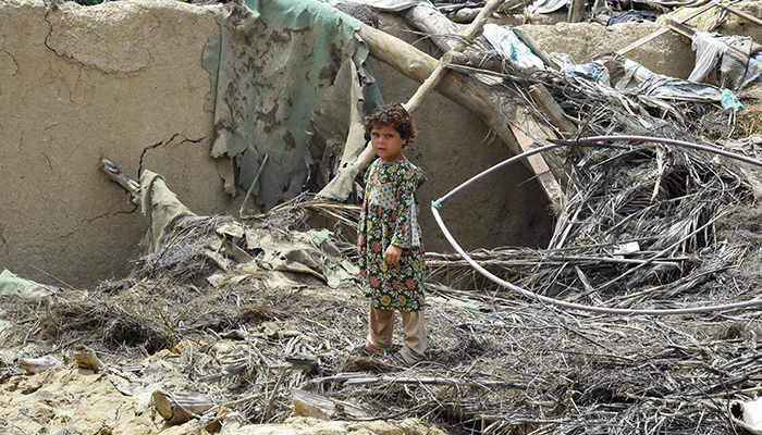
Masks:
[[[200,212],[225,210],[202,108],[217,32],[181,2],[0,0],[0,268],[74,286],[126,273],[146,221],[101,158],[164,174]]]

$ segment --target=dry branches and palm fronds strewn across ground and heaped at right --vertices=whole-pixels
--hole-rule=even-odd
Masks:
[[[712,104],[625,95],[509,63],[479,74],[500,91],[491,98],[530,107],[557,138],[564,135],[529,86],[543,84],[581,136],[697,141],[706,136],[704,117],[723,119]],[[720,136],[735,130],[729,121]],[[762,145],[726,144],[748,156]],[[554,161],[565,197],[550,248],[475,252],[482,265],[534,293],[594,306],[758,297],[757,169],[648,142],[572,147]],[[292,243],[316,213],[336,224],[336,238],[352,238],[356,207],[306,196],[255,216],[246,235]],[[437,253],[428,256],[429,296],[439,297],[427,308],[429,359],[392,370],[347,351],[367,328],[367,301],[354,285],[331,288],[306,273],[270,270],[243,239],[228,239],[229,250],[218,243],[214,253],[250,261],[222,268],[208,250],[232,219],[175,221],[130,278],[34,302],[0,296],[16,325],[2,347],[37,343],[26,356],[40,357],[86,345],[108,373],[130,380],[127,393],[161,385],[211,400],[199,415],[205,423],[283,421],[298,389],[331,401],[334,419],[416,417],[457,433],[726,434],[729,401],[754,397],[762,382],[760,308],[667,318],[567,312],[517,298],[459,258]],[[334,244],[345,249],[331,256],[352,252],[351,243]],[[212,273],[221,276],[216,284]],[[17,374],[17,357],[3,361],[3,376]],[[164,372],[148,374],[150,361],[162,361]]]

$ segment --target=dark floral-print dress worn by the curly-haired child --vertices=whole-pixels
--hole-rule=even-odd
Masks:
[[[416,187],[421,172],[407,160],[376,160],[365,176],[365,200],[357,228],[360,286],[377,310],[423,309],[423,241]],[[397,264],[386,264],[390,245],[403,248]]]

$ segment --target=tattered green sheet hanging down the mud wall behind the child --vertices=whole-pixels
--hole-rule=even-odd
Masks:
[[[221,28],[204,52],[211,75],[205,109],[214,112],[211,157],[231,166],[220,171],[231,195],[236,186],[248,189],[261,169],[251,192],[269,209],[314,179],[325,145],[312,138],[312,111],[342,64],[351,60],[357,74],[349,79],[378,92],[364,65],[367,47],[355,36],[360,22],[317,1],[246,0],[210,10]]]

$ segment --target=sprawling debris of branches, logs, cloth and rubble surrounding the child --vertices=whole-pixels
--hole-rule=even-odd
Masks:
[[[458,21],[471,10],[479,20],[483,10],[514,7],[496,3],[439,10]],[[418,5],[401,10],[408,8]],[[374,32],[358,30],[379,37]],[[138,184],[106,164],[150,220],[147,253],[131,276],[89,290],[0,275],[0,427],[238,434],[276,432],[271,424],[283,422],[299,433],[751,427],[742,419],[762,382],[762,308],[700,309],[759,298],[759,167],[706,151],[760,157],[758,78],[721,74],[718,84],[734,84],[721,89],[651,73],[616,53],[576,63],[545,53],[520,29],[486,33],[488,46],[464,38],[468,44],[451,50],[446,38],[438,42],[447,54],[431,70],[443,94],[453,95],[446,77],[457,74],[480,96],[470,104],[517,153],[565,147],[529,163],[553,201],[550,246],[471,257],[555,300],[697,312],[562,310],[493,284],[459,256],[429,252],[428,359],[390,368],[351,350],[367,330],[367,300],[354,282],[357,206],[300,194],[260,214],[246,212],[244,202],[239,220],[204,216],[177,200],[171,181],[145,170]],[[373,55],[378,40],[367,44]],[[428,62],[422,53],[419,60]],[[352,136],[344,135],[345,147],[356,146]],[[352,169],[339,196],[355,189],[362,146],[342,156],[335,171],[323,167],[334,179],[340,169]],[[261,170],[266,159],[255,166]],[[254,187],[259,174],[249,175]],[[442,214],[446,220],[446,206]],[[317,219],[330,231],[311,228]],[[97,399],[72,387],[76,382],[103,391],[118,410],[100,421],[81,411]]]

